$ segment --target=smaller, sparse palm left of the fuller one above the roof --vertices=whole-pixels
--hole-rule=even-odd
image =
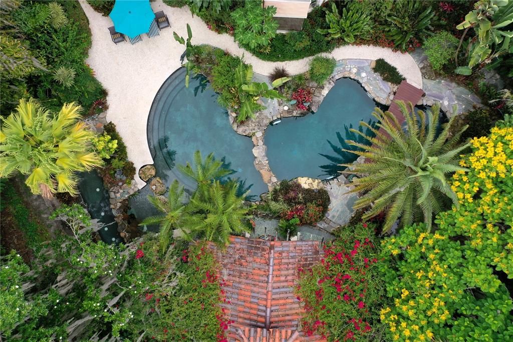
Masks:
[[[160,245],[164,253],[171,241],[172,230],[180,227],[183,219],[186,217],[185,205],[182,202],[184,197],[184,187],[179,186],[177,180],[174,180],[169,188],[167,199],[159,196],[148,196],[148,200],[163,215],[150,216],[143,220],[139,225],[158,224],[160,226]]]

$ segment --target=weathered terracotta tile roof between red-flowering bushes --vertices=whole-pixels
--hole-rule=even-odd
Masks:
[[[319,241],[267,241],[236,236],[230,240],[226,251],[216,251],[225,280],[223,307],[234,321],[228,340],[322,340],[320,336],[296,332],[303,309],[293,293],[298,268],[309,268],[321,259]],[[213,244],[210,246],[215,249]]]

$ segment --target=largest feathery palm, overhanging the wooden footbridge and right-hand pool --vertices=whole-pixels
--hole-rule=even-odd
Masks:
[[[391,112],[376,108],[372,115],[379,122],[377,126],[384,131],[365,122],[360,124],[376,137],[352,129],[372,145],[347,141],[349,145],[361,148],[347,151],[365,157],[367,162],[343,164],[350,167],[350,171],[344,173],[362,177],[353,180],[352,192],[366,192],[354,203],[355,209],[371,206],[363,219],[386,212],[383,230],[388,231],[399,217],[401,226],[420,221],[423,217],[430,229],[432,216],[443,210],[444,201],[450,199],[456,206],[459,204],[455,192],[447,184],[446,175],[465,170],[458,166],[458,154],[468,144],[459,145],[458,141],[467,127],[448,140],[452,117],[437,137],[439,104],[433,105],[426,113],[419,110],[420,121],[411,103],[407,107],[398,101],[398,105],[407,129],[401,128]]]

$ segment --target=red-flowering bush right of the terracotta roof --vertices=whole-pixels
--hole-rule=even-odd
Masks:
[[[384,289],[379,253],[373,226],[359,223],[324,246],[319,264],[299,269],[295,290],[304,302],[306,335],[322,335],[328,341],[367,341],[380,335]]]

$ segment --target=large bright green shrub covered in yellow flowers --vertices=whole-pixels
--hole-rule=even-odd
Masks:
[[[385,238],[381,272],[392,304],[380,312],[391,340],[513,340],[513,127],[472,139],[453,175],[459,207],[438,229],[405,227]]]

